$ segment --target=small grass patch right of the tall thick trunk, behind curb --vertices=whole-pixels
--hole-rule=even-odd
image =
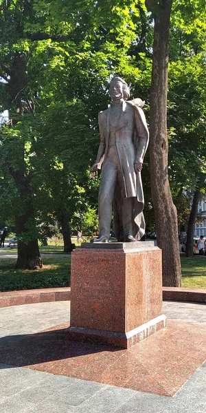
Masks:
[[[206,288],[206,257],[181,257],[182,287]]]

